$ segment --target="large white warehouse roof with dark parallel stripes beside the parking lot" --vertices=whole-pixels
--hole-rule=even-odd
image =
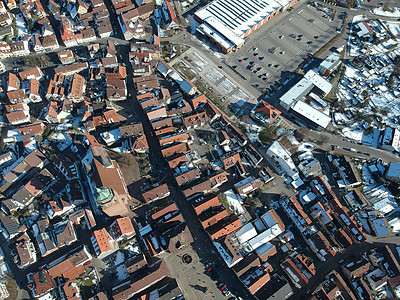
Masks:
[[[289,2],[289,0],[279,0],[279,3],[275,0],[214,0],[195,15],[213,27],[218,26],[219,28],[214,28],[220,33],[242,39],[248,29],[284,6],[283,3]],[[220,24],[216,24],[215,20]]]

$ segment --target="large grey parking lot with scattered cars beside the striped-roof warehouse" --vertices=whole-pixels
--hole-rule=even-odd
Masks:
[[[295,70],[307,54],[334,37],[341,22],[307,3],[297,4],[250,35],[243,48],[228,56],[227,64],[252,85],[265,89],[289,76],[282,72]]]

